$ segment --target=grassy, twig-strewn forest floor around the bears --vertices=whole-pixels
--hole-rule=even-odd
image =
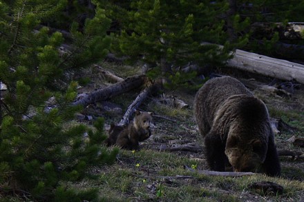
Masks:
[[[126,78],[138,74],[140,67],[103,64],[107,70]],[[90,92],[109,85],[97,68],[86,73],[89,85],[79,92]],[[268,85],[273,79],[235,70],[217,70],[242,81]],[[280,81],[278,81],[280,82]],[[252,86],[252,85],[251,85]],[[294,127],[292,130],[276,133],[278,150],[304,152],[287,141],[292,136],[304,137],[304,85],[299,85],[290,96],[269,92],[265,88],[249,88],[262,99],[272,118],[283,120]],[[133,90],[113,99],[88,107],[86,116],[103,116],[106,128],[110,123],[122,119],[126,108],[140,93]],[[160,96],[149,97],[140,105],[140,110],[153,112],[152,136],[140,144],[140,151],[121,150],[113,165],[95,167],[92,172],[98,179],[86,179],[79,188],[98,188],[104,201],[304,201],[304,160],[292,156],[280,156],[282,176],[265,174],[249,176],[211,176],[200,174],[209,170],[203,154],[203,139],[197,131],[193,117],[193,99],[196,90],[164,90],[167,96],[174,96],[189,105],[178,109],[160,102]],[[106,110],[105,105],[114,105],[115,110]],[[118,110],[117,110],[118,109]],[[88,121],[90,123],[91,121]],[[174,150],[172,148],[184,148]],[[194,148],[188,150],[187,148]],[[186,169],[191,168],[191,169]],[[271,181],[283,186],[283,193],[251,189],[252,183]]]

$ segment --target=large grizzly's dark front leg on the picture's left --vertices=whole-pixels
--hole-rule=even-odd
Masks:
[[[205,137],[205,156],[211,170],[225,171],[225,144],[220,135],[209,132]]]

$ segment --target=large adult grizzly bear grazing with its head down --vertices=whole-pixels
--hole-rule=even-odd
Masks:
[[[194,110],[211,170],[232,165],[234,172],[281,174],[267,108],[243,83],[210,79],[198,90]]]

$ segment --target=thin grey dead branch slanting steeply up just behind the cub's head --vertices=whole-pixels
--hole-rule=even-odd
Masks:
[[[146,97],[149,96],[149,94],[151,93],[153,88],[155,88],[155,86],[151,85],[148,88],[144,89],[142,92],[140,92],[140,94],[138,94],[138,96],[133,101],[133,103],[131,103],[131,105],[129,105],[129,108],[126,110],[126,113],[124,114],[124,117],[122,117],[122,120],[120,120],[119,125],[126,125],[130,122],[129,120],[130,120],[130,117],[133,114],[133,112],[135,112],[135,110],[142,103],[142,101],[144,101],[146,99]]]

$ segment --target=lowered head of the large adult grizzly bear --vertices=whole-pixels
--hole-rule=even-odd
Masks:
[[[234,172],[256,172],[265,161],[267,143],[260,139],[244,141],[240,137],[227,139],[225,154]]]

